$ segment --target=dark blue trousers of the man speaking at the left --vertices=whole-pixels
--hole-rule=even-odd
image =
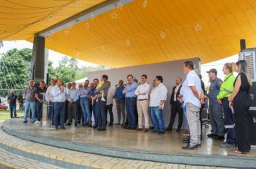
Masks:
[[[54,125],[58,127],[58,116],[60,114],[60,126],[64,127],[65,122],[65,102],[53,102]]]

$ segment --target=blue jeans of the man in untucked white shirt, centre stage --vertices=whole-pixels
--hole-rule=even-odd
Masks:
[[[158,107],[151,107],[151,115],[154,124],[154,130],[157,132],[165,131],[165,124],[163,122],[163,110],[158,109]]]

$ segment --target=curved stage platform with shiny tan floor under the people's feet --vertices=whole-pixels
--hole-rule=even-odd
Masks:
[[[198,150],[182,150],[182,132],[152,132],[124,130],[121,127],[107,127],[99,132],[91,127],[66,127],[67,130],[42,128],[34,124],[23,124],[22,119],[6,120],[2,130],[9,135],[37,143],[67,148],[86,153],[109,155],[117,158],[150,160],[163,163],[187,165],[224,166],[232,168],[256,168],[256,150],[248,155],[235,155],[235,148],[220,148],[221,141],[204,139]]]

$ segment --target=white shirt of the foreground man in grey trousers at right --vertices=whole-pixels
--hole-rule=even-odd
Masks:
[[[196,87],[196,90],[198,92],[198,95],[201,95],[201,80],[199,79],[198,75],[194,70],[191,70],[191,72],[188,72],[187,77],[182,85],[182,94],[183,94],[183,101],[184,105],[186,105],[188,102],[190,102],[193,105],[196,105],[197,107],[201,107],[200,100],[193,94],[191,90],[191,86]]]

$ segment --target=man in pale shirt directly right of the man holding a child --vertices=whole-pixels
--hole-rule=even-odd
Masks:
[[[109,112],[109,126],[113,125],[114,117],[113,117],[113,100],[114,100],[114,93],[116,90],[114,90],[113,87],[111,87],[111,83],[109,82],[109,92],[108,96],[106,97],[106,123],[108,119],[108,112]]]

